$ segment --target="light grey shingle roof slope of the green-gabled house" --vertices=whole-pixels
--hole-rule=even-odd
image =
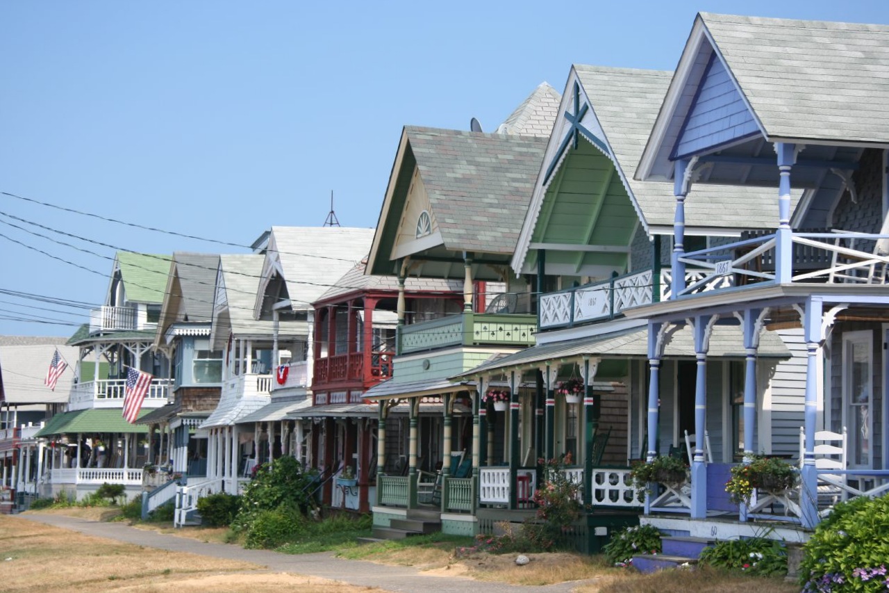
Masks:
[[[581,64],[575,64],[574,69],[645,221],[652,226],[672,226],[676,211],[673,183],[639,182],[632,176],[673,73]],[[801,191],[794,192],[791,208],[796,207],[801,195]],[[778,223],[777,203],[778,191],[773,189],[699,185],[685,200],[685,223],[733,229],[773,228]]]

